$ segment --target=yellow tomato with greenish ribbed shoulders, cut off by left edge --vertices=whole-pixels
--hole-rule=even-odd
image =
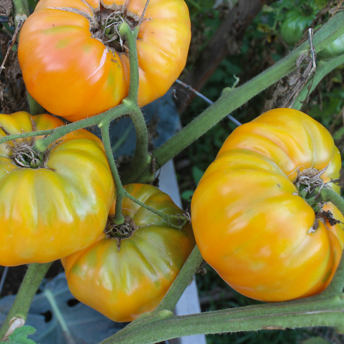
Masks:
[[[0,137],[64,125],[51,115],[0,114]],[[36,137],[40,138],[40,137]],[[0,144],[0,265],[46,263],[92,244],[103,231],[114,181],[102,142],[68,133],[41,155],[35,139]]]

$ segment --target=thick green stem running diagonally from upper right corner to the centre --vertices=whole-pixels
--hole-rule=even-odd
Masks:
[[[314,34],[314,49],[317,52],[320,51],[343,33],[344,11],[334,15]],[[221,97],[212,106],[208,107],[201,115],[192,120],[186,127],[153,152],[157,165],[164,165],[230,112],[245,104],[255,95],[276,83],[282,77],[293,72],[296,69],[295,62],[302,53],[309,54],[308,42],[301,44],[289,55],[282,58],[282,60],[278,61],[244,85],[234,89],[225,88]],[[147,182],[154,178],[148,163],[146,166],[141,167],[141,171],[144,172],[140,175],[138,181]]]

